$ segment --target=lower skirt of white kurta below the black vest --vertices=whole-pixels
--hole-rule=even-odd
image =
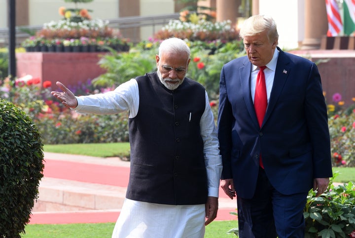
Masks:
[[[125,200],[112,238],[203,238],[205,204],[165,205]]]

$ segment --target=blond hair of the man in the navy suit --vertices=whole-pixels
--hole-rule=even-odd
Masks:
[[[246,36],[254,36],[263,31],[267,31],[267,36],[270,42],[279,40],[279,33],[274,19],[271,16],[255,15],[244,21],[239,35],[244,39]]]

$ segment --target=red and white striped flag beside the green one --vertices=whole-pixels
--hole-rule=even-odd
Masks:
[[[343,23],[339,13],[339,7],[336,0],[325,0],[325,6],[328,17],[328,37],[338,36],[343,30]]]

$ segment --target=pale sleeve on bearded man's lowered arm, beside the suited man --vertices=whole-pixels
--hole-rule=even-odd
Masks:
[[[218,198],[219,180],[222,172],[222,158],[219,154],[217,129],[214,124],[210,101],[206,95],[205,112],[200,121],[201,136],[204,142],[204,156],[208,179],[208,196]]]

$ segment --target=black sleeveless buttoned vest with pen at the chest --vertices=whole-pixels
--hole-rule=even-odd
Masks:
[[[138,77],[139,110],[129,120],[131,171],[126,197],[171,205],[204,204],[207,173],[200,134],[205,88],[185,78],[167,89],[157,73]]]

